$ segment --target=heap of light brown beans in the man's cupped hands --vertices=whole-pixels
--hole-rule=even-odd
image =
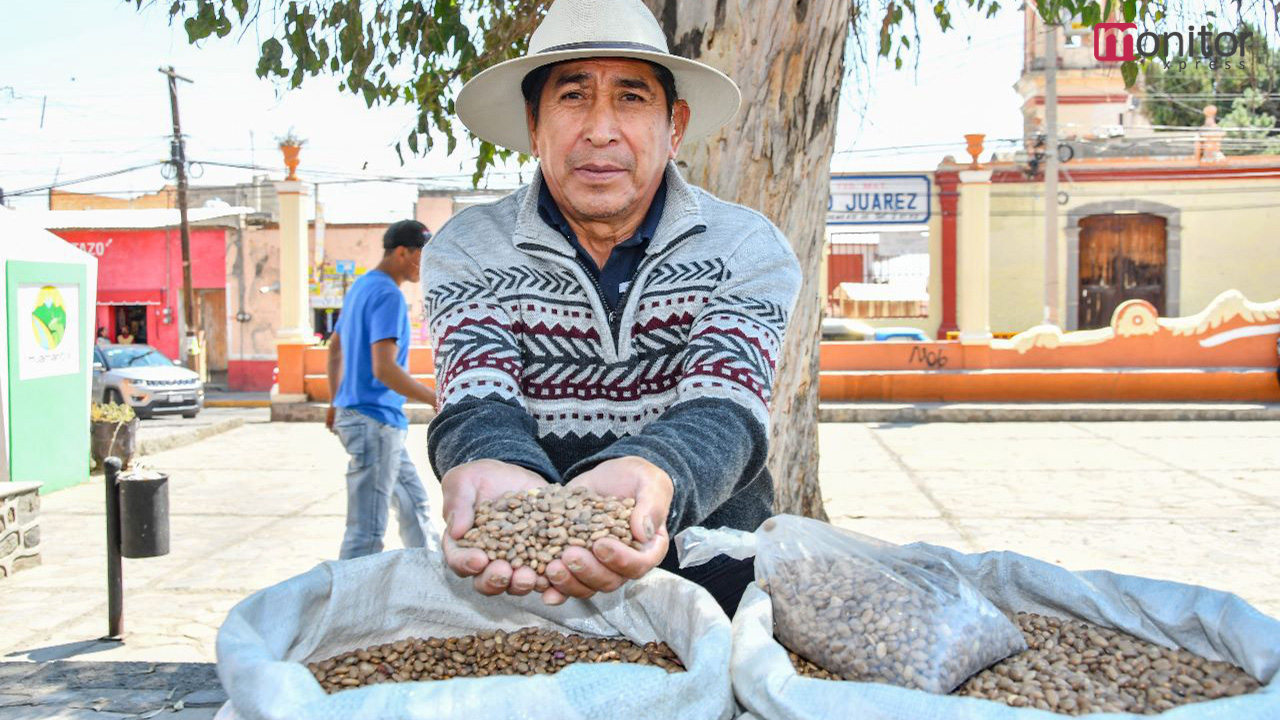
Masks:
[[[490,561],[506,560],[541,575],[567,547],[590,547],[612,537],[643,548],[631,534],[632,507],[630,497],[600,497],[580,486],[508,492],[477,503],[475,523],[457,543],[485,551]]]

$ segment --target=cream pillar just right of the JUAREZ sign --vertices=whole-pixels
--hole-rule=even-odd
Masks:
[[[960,170],[956,319],[963,345],[991,343],[991,170]]]

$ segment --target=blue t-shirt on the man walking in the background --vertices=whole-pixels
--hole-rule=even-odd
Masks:
[[[407,429],[404,396],[374,377],[372,346],[380,340],[393,338],[396,364],[408,366],[408,305],[396,281],[381,270],[361,275],[347,291],[337,331],[342,338],[342,383],[333,404]]]

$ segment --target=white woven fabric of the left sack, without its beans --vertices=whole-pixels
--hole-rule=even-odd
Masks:
[[[303,665],[406,637],[527,626],[663,641],[687,671],[584,664],[554,675],[388,683],[330,696]],[[733,712],[728,656],[728,618],[710,593],[669,573],[548,607],[536,594],[481,596],[425,550],[324,562],[253,593],[218,632],[218,676],[234,706],[224,711],[238,720],[722,720]]]

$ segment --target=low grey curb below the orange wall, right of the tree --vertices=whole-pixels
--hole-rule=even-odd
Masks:
[[[1280,420],[1275,402],[824,402],[819,423],[1106,423]]]

